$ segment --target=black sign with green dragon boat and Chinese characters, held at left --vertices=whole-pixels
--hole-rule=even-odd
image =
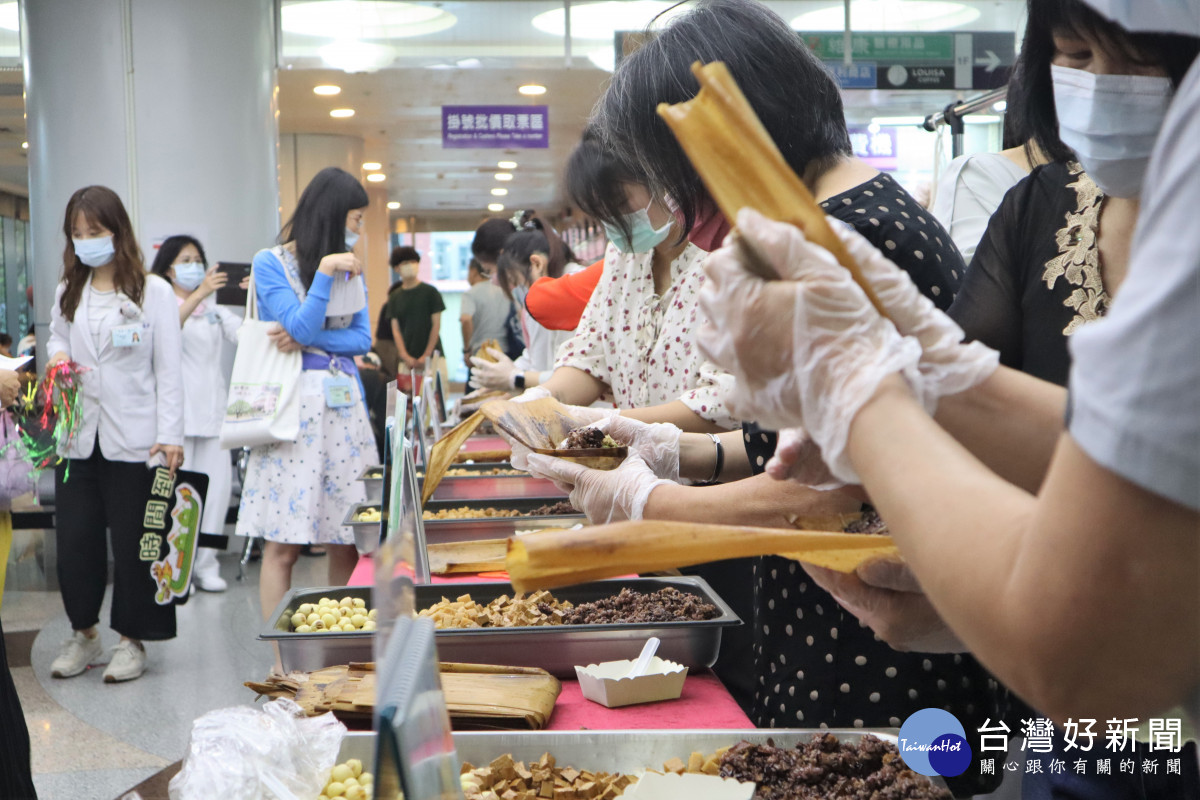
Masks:
[[[172,479],[163,467],[146,470],[138,555],[150,564],[160,606],[187,602],[208,491],[209,476],[203,473],[176,470]]]

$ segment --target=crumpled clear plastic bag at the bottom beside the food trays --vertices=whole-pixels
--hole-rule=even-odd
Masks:
[[[316,800],[344,735],[332,714],[306,717],[286,698],[209,711],[192,723],[170,800]]]

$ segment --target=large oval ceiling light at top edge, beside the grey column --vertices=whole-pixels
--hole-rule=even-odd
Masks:
[[[281,26],[288,34],[323,38],[391,40],[436,34],[457,22],[452,13],[432,4],[314,0],[284,5]]]

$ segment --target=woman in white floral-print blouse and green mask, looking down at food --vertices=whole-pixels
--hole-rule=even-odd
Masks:
[[[604,221],[608,247],[575,336],[558,349],[554,373],[538,393],[570,405],[612,396],[623,415],[685,431],[736,427],[721,401],[725,373],[691,343],[704,251],[680,240],[666,203],[650,197],[594,130],[571,154],[566,182],[580,209]]]

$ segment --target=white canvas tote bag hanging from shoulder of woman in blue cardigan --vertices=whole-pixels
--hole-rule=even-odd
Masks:
[[[295,441],[300,433],[301,355],[299,350],[280,353],[268,337],[274,325],[258,318],[251,271],[246,317],[238,330],[238,353],[221,422],[224,449]]]

